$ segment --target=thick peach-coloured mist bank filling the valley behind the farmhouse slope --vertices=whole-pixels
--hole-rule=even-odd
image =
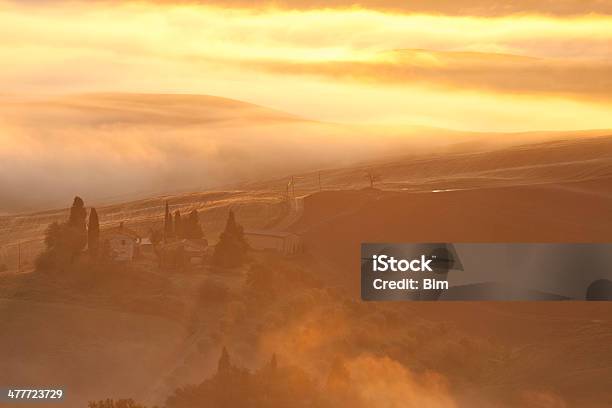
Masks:
[[[227,187],[372,159],[414,141],[206,96],[5,98],[1,105],[0,212],[62,206],[75,194],[96,204]]]

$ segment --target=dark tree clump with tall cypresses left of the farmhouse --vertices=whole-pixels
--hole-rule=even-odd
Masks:
[[[89,243],[92,256],[98,254],[100,225],[92,208],[87,227],[87,210],[81,197],[75,197],[68,220],[54,222],[45,233],[45,251],[37,258],[39,270],[61,269],[72,264]]]

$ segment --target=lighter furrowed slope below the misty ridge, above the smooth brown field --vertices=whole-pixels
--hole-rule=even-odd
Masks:
[[[412,192],[508,187],[588,181],[612,174],[612,133],[579,132],[505,135],[507,146],[486,139],[447,145],[431,152],[402,152],[354,166],[296,175],[299,193],[367,187],[366,172],[379,176],[376,187]],[[550,140],[552,139],[552,140]],[[272,185],[282,188],[287,178]],[[270,188],[271,182],[245,184]]]

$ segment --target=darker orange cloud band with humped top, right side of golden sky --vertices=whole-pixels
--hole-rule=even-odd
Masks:
[[[373,61],[246,61],[282,75],[425,84],[519,94],[612,98],[612,61],[571,61],[474,52],[401,50]]]

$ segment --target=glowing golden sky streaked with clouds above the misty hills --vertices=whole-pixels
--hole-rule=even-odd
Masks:
[[[612,128],[611,1],[0,0],[0,92],[217,95],[330,122]]]

